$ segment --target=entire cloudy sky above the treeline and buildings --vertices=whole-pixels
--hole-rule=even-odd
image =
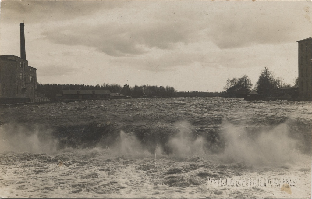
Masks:
[[[220,92],[255,85],[267,67],[294,84],[311,1],[1,1],[0,54],[26,59],[37,82],[173,86]]]

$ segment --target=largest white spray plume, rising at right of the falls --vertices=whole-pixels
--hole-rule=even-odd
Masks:
[[[288,136],[288,126],[283,123],[273,129],[257,133],[245,128],[223,124],[227,140],[224,158],[252,164],[284,163],[297,161],[300,152],[297,141]]]

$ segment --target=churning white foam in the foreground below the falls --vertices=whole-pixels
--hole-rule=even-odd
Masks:
[[[7,161],[9,156],[15,161]],[[107,150],[100,148],[58,155],[10,153],[1,157],[0,193],[1,197],[9,198],[272,197],[270,192],[275,197],[299,198],[308,194],[311,172],[299,169],[304,163],[247,167],[219,162],[214,155],[183,158],[162,157],[155,166],[154,158],[112,158]],[[280,192],[279,187],[208,187],[206,183],[208,177],[283,176],[298,177],[298,186],[292,187],[293,195]]]

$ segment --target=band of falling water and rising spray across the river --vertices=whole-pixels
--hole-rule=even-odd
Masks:
[[[102,148],[114,157],[217,154],[226,163],[262,165],[294,162],[301,153],[311,151],[310,140],[306,139],[309,135],[295,133],[302,125],[295,127],[293,122],[274,127],[223,122],[219,128],[207,132],[199,131],[187,121],[170,124],[167,128],[159,125],[158,128],[162,130],[145,128],[144,131],[142,126],[138,131],[134,127],[120,130],[114,125],[90,124],[45,130],[37,126],[30,131],[21,125],[4,124],[0,126],[0,152],[57,154],[68,150]]]

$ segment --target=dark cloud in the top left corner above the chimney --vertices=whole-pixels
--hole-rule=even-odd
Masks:
[[[124,5],[119,1],[1,1],[1,22],[24,20],[30,24],[63,21]]]

